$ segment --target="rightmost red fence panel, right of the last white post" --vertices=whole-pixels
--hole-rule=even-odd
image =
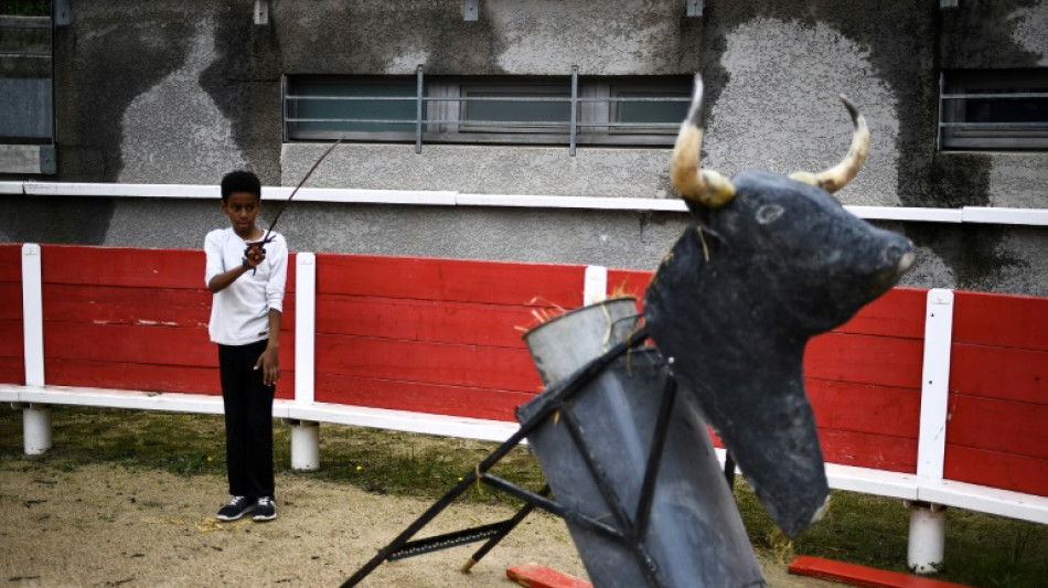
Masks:
[[[1048,496],[1048,298],[954,292],[945,478]]]

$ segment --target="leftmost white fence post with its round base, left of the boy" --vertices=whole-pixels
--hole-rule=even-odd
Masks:
[[[44,303],[40,245],[22,245],[22,332],[25,385],[44,385]],[[46,405],[22,407],[22,447],[26,456],[51,449],[51,415]]]

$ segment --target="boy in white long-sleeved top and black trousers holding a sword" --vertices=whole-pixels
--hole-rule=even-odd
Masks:
[[[222,521],[254,513],[277,517],[272,475],[272,396],[280,365],[280,317],[288,271],[288,246],[277,233],[265,248],[248,248],[265,232],[255,226],[261,183],[234,171],[222,179],[222,212],[232,226],[207,233],[205,280],[214,293],[208,332],[218,344],[225,407],[226,462],[232,500]]]

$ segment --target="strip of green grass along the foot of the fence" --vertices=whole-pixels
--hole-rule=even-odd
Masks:
[[[0,408],[0,467],[19,471],[71,472],[109,462],[179,475],[225,477],[225,432],[221,416],[53,407],[53,448],[22,453],[21,413]],[[368,492],[437,500],[499,443],[450,439],[338,425],[321,425],[321,470],[290,470],[289,428],[275,425],[274,459],[279,472],[329,480]],[[537,490],[542,469],[526,448],[510,452],[492,473]],[[787,558],[814,555],[879,569],[907,571],[909,513],[899,500],[834,491],[826,516],[789,548],[752,491],[739,480],[735,492],[753,547]],[[516,503],[486,487],[459,501]],[[947,511],[943,581],[990,588],[1034,588],[1048,578],[1048,525],[950,509]]]

